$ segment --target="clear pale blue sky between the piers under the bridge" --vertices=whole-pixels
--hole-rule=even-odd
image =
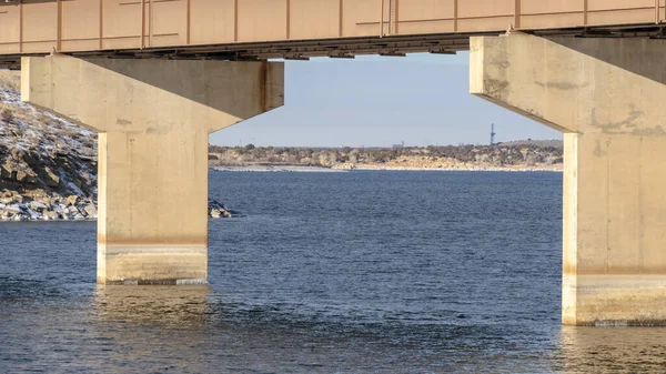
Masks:
[[[562,139],[468,93],[467,52],[286,61],[285,105],[219,131],[218,145],[390,146]]]

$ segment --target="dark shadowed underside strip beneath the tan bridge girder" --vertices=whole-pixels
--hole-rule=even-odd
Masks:
[[[437,33],[417,36],[383,36],[319,40],[284,40],[180,48],[135,48],[80,52],[63,52],[78,58],[170,59],[262,61],[268,59],[307,60],[310,58],[351,59],[362,54],[402,57],[406,53],[455,54],[470,50],[472,37],[496,37],[507,30],[487,32]],[[649,38],[666,39],[666,29],[658,24],[589,27],[531,30],[537,37],[575,38]],[[47,53],[0,54],[0,69],[19,70],[21,55],[40,57]]]

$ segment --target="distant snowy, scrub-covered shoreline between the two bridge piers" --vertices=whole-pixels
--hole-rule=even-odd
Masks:
[[[228,171],[562,171],[562,141],[393,148],[209,148],[209,166]]]

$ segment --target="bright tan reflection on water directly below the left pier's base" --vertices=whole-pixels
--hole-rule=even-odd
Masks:
[[[108,321],[194,328],[210,313],[208,296],[208,285],[98,285],[91,307]]]

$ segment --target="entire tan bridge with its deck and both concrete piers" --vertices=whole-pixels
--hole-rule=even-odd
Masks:
[[[209,133],[284,104],[268,59],[470,50],[473,94],[564,133],[563,323],[665,325],[665,20],[664,0],[4,0],[0,65],[100,133],[98,282],[188,284]]]

